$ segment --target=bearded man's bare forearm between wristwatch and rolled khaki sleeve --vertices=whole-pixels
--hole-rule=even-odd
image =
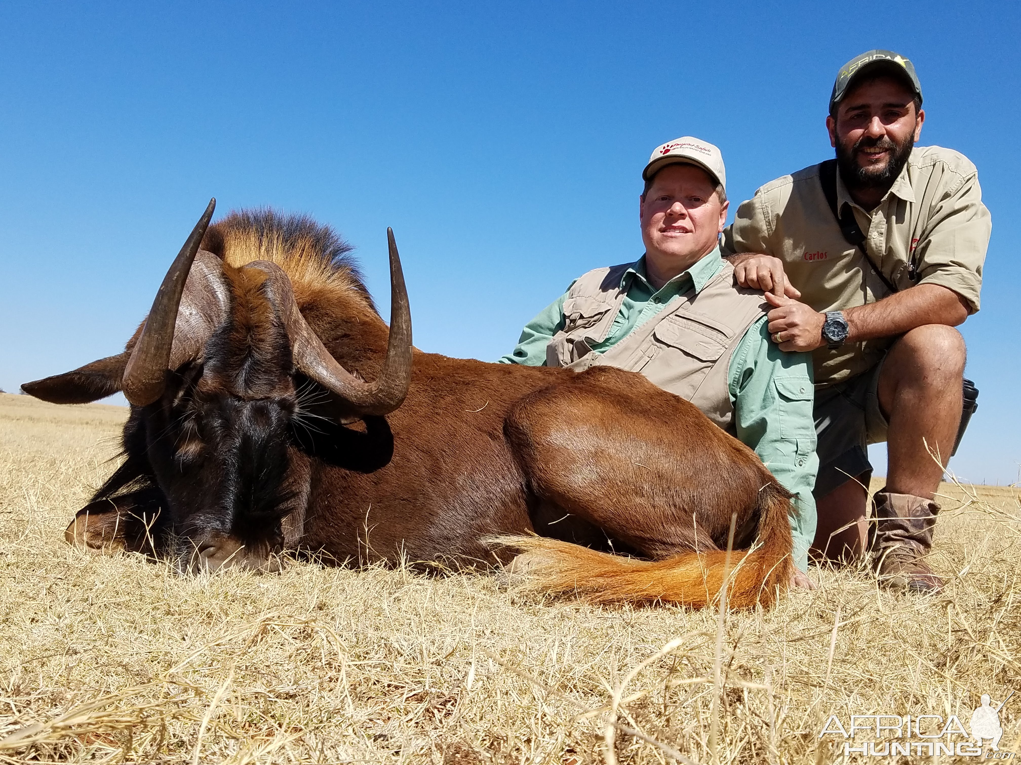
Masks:
[[[924,324],[957,326],[968,318],[968,304],[939,285],[917,285],[877,303],[847,308],[848,343],[904,335]]]

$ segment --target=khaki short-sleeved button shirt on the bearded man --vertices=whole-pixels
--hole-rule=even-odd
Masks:
[[[989,211],[975,165],[938,146],[916,147],[874,210],[855,204],[837,175],[837,209],[850,204],[872,263],[898,290],[940,285],[978,310]],[[724,232],[723,254],[762,252],[784,261],[801,300],[817,311],[874,303],[889,294],[865,256],[844,240],[819,181],[819,165],[784,175],[743,202]],[[914,261],[912,278],[909,263]],[[868,370],[895,338],[813,353],[816,384],[832,385]]]

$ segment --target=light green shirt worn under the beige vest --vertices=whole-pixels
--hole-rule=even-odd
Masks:
[[[606,339],[594,345],[592,350],[605,352],[680,295],[692,288],[695,293],[700,292],[723,265],[720,251],[716,249],[657,290],[645,277],[645,258],[642,256],[625,272],[622,286],[626,294],[621,310]],[[564,328],[566,298],[567,293],[529,321],[517,347],[500,362],[544,365],[546,346]],[[812,419],[813,401],[811,396],[797,400],[781,396],[775,379],[804,378],[806,390],[811,392],[812,357],[807,353],[779,350],[770,340],[766,324],[766,316],[752,323],[730,359],[728,390],[734,407],[735,436],[755,450],[787,491],[796,495],[794,506],[797,513],[790,519],[794,534],[794,563],[805,571],[809,565],[809,546],[816,532],[816,502],[812,489],[819,469],[816,429]]]

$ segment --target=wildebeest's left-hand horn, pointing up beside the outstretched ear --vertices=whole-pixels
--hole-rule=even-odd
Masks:
[[[188,272],[205,235],[206,226],[216,207],[216,200],[210,199],[202,217],[195,224],[191,236],[185,242],[174,264],[159,286],[152,309],[145,319],[142,334],[135,344],[131,359],[125,368],[124,394],[132,404],[146,406],[158,399],[166,387],[166,371],[171,368],[171,352],[174,346],[174,328],[178,319],[178,308],[184,294]]]

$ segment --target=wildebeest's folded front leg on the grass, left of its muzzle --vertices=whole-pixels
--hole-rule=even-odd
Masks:
[[[139,502],[135,495],[90,502],[67,524],[64,540],[93,553],[155,555],[158,513],[158,506]]]

